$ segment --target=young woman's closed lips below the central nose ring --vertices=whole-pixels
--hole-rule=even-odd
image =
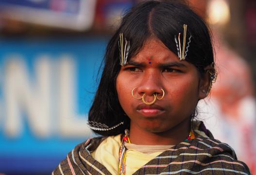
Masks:
[[[160,105],[146,105],[144,103],[139,104],[136,110],[145,117],[156,117],[165,112]]]

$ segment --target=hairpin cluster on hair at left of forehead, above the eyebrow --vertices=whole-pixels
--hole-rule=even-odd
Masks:
[[[125,44],[124,44],[124,37],[123,33],[119,34],[120,39],[118,41],[119,51],[120,51],[120,65],[124,66],[126,65],[128,53],[130,49],[130,41],[127,41],[125,38]]]

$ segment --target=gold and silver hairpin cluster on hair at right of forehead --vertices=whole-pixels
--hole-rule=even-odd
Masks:
[[[176,42],[177,51],[178,51],[178,58],[179,58],[179,60],[185,60],[185,58],[187,56],[187,52],[189,51],[189,46],[190,46],[190,43],[191,43],[192,35],[190,35],[190,37],[189,37],[189,42],[187,44],[186,51],[185,51],[186,37],[187,37],[187,25],[183,24],[183,44],[182,44],[182,50],[181,50],[181,44],[180,44],[180,33],[178,35],[178,41],[177,41],[176,35],[174,36],[174,39],[175,39],[175,42]]]

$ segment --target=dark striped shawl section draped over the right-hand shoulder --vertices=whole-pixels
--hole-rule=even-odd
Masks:
[[[136,175],[141,174],[215,174],[251,175],[248,166],[237,160],[234,150],[213,138],[198,136],[164,151],[149,161]]]

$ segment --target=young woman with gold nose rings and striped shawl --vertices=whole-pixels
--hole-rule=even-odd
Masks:
[[[212,50],[205,23],[177,0],[133,7],[107,46],[89,112],[102,136],[76,146],[53,174],[249,175],[194,119],[216,79]]]

